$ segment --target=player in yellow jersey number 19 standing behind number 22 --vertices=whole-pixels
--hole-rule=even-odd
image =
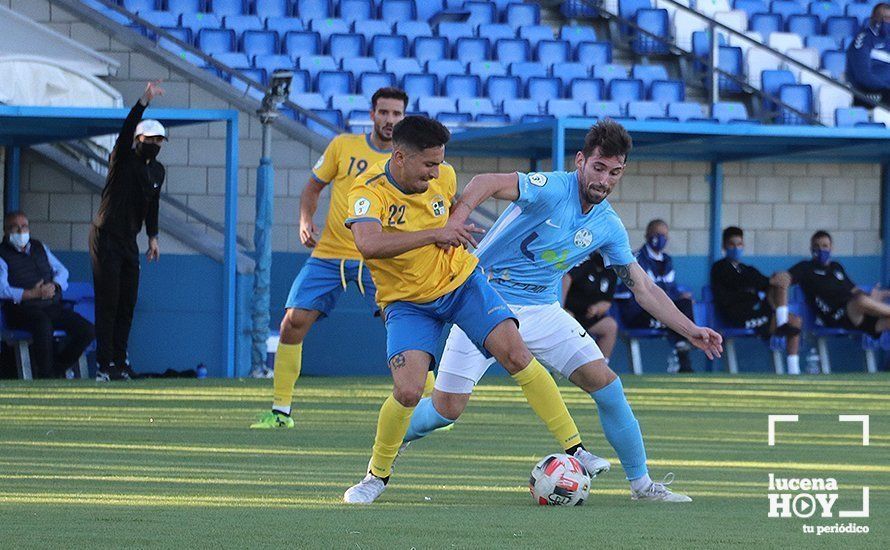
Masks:
[[[356,177],[389,157],[393,126],[405,116],[408,96],[398,88],[381,88],[371,98],[370,134],[335,137],[315,163],[300,196],[300,241],[312,255],[294,279],[281,321],[275,354],[272,410],[251,428],[292,428],[291,402],[302,366],[303,339],[316,320],[326,316],[349,282],[354,282],[372,311],[374,282],[355,248],[352,233],[343,225],[346,195]],[[321,191],[330,186],[331,202],[321,237],[313,221]],[[432,375],[430,375],[432,378]]]

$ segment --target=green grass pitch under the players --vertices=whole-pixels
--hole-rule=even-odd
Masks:
[[[249,430],[271,381],[0,382],[0,548],[890,548],[890,376],[626,376],[654,478],[694,502],[629,498],[593,402],[561,385],[613,461],[576,508],[532,503],[557,451],[508,378],[450,433],[412,445],[370,507],[341,504],[367,464],[386,378],[304,378],[293,430]],[[767,415],[798,414],[767,445]],[[860,425],[839,414],[870,415]],[[833,518],[770,519],[768,474],[837,479]],[[870,517],[859,510],[870,488]],[[855,522],[868,534],[804,534]]]

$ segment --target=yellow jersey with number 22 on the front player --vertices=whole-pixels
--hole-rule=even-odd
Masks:
[[[393,180],[389,161],[379,162],[356,178],[345,225],[373,221],[383,226],[384,233],[437,229],[448,221],[456,193],[457,176],[450,164],[439,166],[439,177],[423,193],[405,193]],[[398,301],[432,302],[463,284],[478,262],[462,247],[445,251],[435,244],[394,258],[367,260],[381,309]]]

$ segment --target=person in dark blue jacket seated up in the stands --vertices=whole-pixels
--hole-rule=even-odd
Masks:
[[[877,4],[847,48],[847,80],[876,100],[890,103],[890,4]],[[858,98],[855,105],[873,107]]]

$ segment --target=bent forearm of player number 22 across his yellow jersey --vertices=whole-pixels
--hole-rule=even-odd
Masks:
[[[409,250],[435,244],[445,248],[449,246],[476,246],[473,233],[482,233],[483,229],[473,224],[446,226],[423,231],[400,231],[384,233],[378,221],[356,221],[350,224],[355,246],[366,260],[377,258],[394,258]]]

